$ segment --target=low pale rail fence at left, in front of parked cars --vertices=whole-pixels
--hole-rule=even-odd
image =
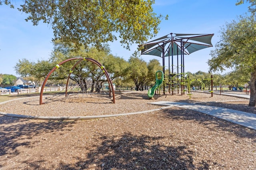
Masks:
[[[62,90],[63,87],[45,87],[44,92],[54,92],[54,91],[60,91]],[[11,92],[10,89],[7,89],[7,92],[0,92],[0,95],[8,95],[8,94],[13,94],[13,95],[19,95],[19,94],[29,94],[29,93],[40,93],[41,88],[25,88],[25,89],[19,89],[18,92]]]

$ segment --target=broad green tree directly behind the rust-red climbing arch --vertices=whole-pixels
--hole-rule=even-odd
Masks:
[[[124,76],[126,74],[125,70],[128,66],[128,62],[120,57],[109,54],[110,50],[108,45],[104,45],[104,47],[104,49],[99,51],[95,47],[86,49],[81,45],[79,50],[74,50],[74,45],[67,45],[61,41],[54,41],[54,50],[51,53],[50,59],[38,60],[37,62],[30,62],[27,59],[22,59],[16,64],[15,70],[17,74],[20,74],[21,76],[33,76],[36,80],[42,81],[56,64],[70,58],[85,57],[95,59],[104,65],[112,80]],[[49,82],[62,84],[62,80],[67,78],[70,73],[70,69],[76,62],[77,61],[70,61],[62,64],[59,69],[55,70],[51,74]],[[88,88],[86,85],[86,81],[88,81],[85,79],[86,77],[92,78],[92,84],[98,83],[97,85],[102,87],[102,84],[106,80],[104,79],[104,76],[100,79],[102,77],[102,74],[100,73],[101,68],[96,64],[85,61],[79,63],[76,68],[73,69],[70,79],[77,82],[82,90],[86,90]],[[90,89],[94,90],[94,87],[91,87]]]

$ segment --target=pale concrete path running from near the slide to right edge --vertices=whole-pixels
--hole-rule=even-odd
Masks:
[[[244,127],[248,127],[250,129],[256,130],[256,114],[252,114],[252,113],[246,113],[243,111],[226,109],[222,107],[206,106],[206,105],[192,104],[192,103],[160,101],[160,102],[152,102],[150,104],[156,104],[161,106],[176,106],[176,107],[191,109],[194,111],[206,113],[208,115],[212,115],[214,117],[218,117],[220,119],[224,119],[226,121],[230,121],[238,125],[242,125]]]

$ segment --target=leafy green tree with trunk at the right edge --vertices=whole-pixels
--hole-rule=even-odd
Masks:
[[[220,31],[221,39],[216,49],[211,51],[212,59],[208,60],[210,70],[233,68],[236,74],[250,73],[250,102],[256,105],[256,20],[255,16],[240,16],[238,21],[226,23]]]

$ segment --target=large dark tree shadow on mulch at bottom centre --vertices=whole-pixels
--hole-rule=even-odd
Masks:
[[[136,136],[125,133],[116,136],[102,135],[103,142],[96,150],[90,150],[86,160],[78,161],[74,166],[61,165],[60,169],[194,169],[193,151],[186,144],[168,147],[159,143],[162,137],[148,135]],[[198,169],[208,169],[209,164],[202,162]]]

